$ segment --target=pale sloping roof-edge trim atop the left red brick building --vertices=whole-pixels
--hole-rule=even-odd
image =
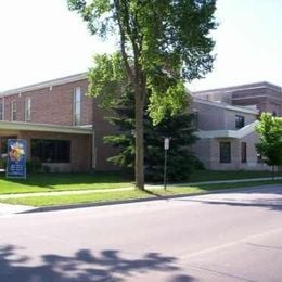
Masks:
[[[23,93],[23,92],[42,89],[42,88],[47,88],[47,87],[69,84],[69,82],[82,80],[86,78],[87,78],[87,73],[76,74],[76,75],[72,75],[72,76],[65,76],[65,77],[43,81],[40,84],[35,84],[35,85],[30,85],[30,86],[25,86],[25,87],[20,87],[20,88],[2,91],[2,92],[0,92],[0,97],[12,95],[12,94]]]

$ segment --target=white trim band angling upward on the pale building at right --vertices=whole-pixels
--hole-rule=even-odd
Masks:
[[[201,139],[209,139],[209,138],[234,138],[241,139],[252,132],[255,131],[255,127],[259,121],[256,120],[239,130],[198,130],[196,136]]]

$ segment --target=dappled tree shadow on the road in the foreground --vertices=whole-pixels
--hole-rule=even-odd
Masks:
[[[42,255],[40,262],[23,255],[24,249],[14,245],[0,245],[1,282],[88,282],[130,281],[136,273],[178,271],[177,258],[148,253],[141,258],[125,258],[120,252],[106,249],[93,255],[89,249],[79,249],[73,256]],[[179,272],[178,272],[179,273]],[[195,281],[189,275],[175,275],[175,282]]]

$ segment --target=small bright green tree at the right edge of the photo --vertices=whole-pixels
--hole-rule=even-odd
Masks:
[[[262,113],[256,131],[259,133],[257,152],[267,165],[272,166],[274,177],[274,166],[282,165],[282,118]]]

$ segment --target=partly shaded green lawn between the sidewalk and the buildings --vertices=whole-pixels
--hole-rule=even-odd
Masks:
[[[189,182],[270,177],[268,171],[195,171]],[[279,172],[278,176],[282,176]],[[133,188],[118,172],[97,174],[33,174],[27,179],[5,179],[0,175],[0,194]]]

